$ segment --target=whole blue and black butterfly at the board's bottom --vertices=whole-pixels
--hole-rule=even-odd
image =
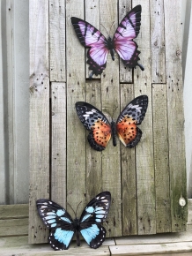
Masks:
[[[106,230],[102,226],[107,218],[111,203],[111,193],[101,192],[85,207],[80,219],[72,220],[68,212],[51,200],[37,200],[37,209],[42,221],[51,230],[48,242],[55,250],[67,250],[74,233],[80,246],[81,234],[93,249],[102,245]]]

